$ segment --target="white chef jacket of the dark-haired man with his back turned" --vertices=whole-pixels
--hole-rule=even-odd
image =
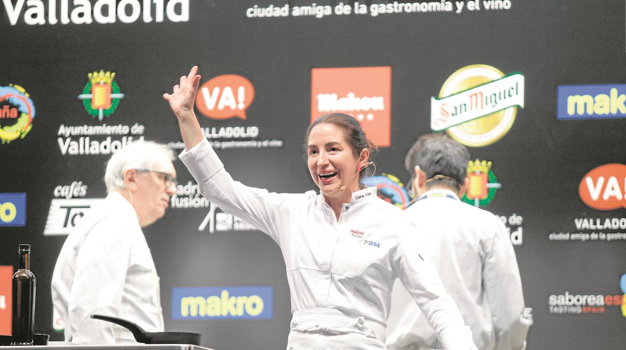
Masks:
[[[438,189],[404,210],[430,247],[433,262],[481,350],[524,346],[531,321],[515,250],[495,215]],[[387,323],[389,349],[443,349],[410,294],[396,286]]]

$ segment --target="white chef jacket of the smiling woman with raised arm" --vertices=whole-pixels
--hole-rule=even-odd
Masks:
[[[411,235],[401,210],[377,198],[375,187],[352,193],[337,220],[314,191],[269,193],[235,182],[207,140],[179,157],[208,200],[279,244],[294,314],[289,348],[385,349],[391,287],[400,277],[447,349],[475,349],[428,256],[403,243]]]

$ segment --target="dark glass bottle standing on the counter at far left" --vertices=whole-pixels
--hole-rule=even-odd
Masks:
[[[35,275],[30,269],[31,246],[20,244],[19,270],[13,275],[13,333],[11,345],[33,345]]]

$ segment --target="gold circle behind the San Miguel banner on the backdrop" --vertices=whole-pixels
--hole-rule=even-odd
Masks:
[[[491,81],[499,80],[505,76],[500,69],[486,64],[471,64],[454,72],[443,83],[439,98],[460,93],[475,88],[476,86],[488,85]],[[486,89],[486,94],[491,91]],[[498,94],[500,91],[493,91]],[[485,96],[483,96],[485,98]],[[487,97],[488,98],[488,97]],[[481,116],[475,120],[466,121],[448,128],[446,132],[454,140],[470,147],[483,147],[491,145],[502,138],[513,126],[517,107],[511,106],[504,110],[496,111],[489,115]]]

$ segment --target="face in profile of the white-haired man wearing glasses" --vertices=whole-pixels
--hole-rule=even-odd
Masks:
[[[151,169],[168,173],[176,177],[176,170],[172,162],[157,163]],[[134,171],[134,170],[131,170]],[[158,172],[136,172],[133,192],[134,207],[139,217],[139,225],[145,227],[165,215],[165,209],[170,205],[170,197],[176,193],[176,185],[165,184],[165,177]]]

